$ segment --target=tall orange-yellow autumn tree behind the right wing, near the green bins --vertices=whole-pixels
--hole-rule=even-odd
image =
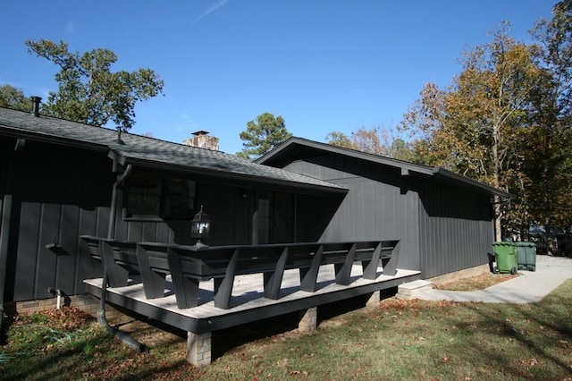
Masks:
[[[525,224],[526,184],[523,142],[530,130],[528,107],[542,79],[534,50],[507,34],[508,23],[493,41],[463,57],[463,72],[449,89],[426,85],[404,123],[420,132],[416,148],[430,165],[486,182],[519,196],[509,209],[495,199],[497,240],[505,226]]]

